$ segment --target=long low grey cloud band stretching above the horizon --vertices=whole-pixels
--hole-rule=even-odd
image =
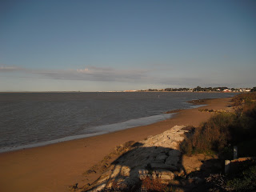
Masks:
[[[79,80],[93,82],[131,82],[144,85],[158,85],[164,87],[194,87],[194,86],[214,86],[248,83],[249,80],[236,77],[221,77],[212,72],[209,74],[186,74],[180,75],[170,73],[168,75],[159,73],[158,70],[120,70],[111,67],[86,66],[82,69],[74,70],[38,70],[30,68],[22,68],[18,66],[0,66],[0,73],[20,72],[26,78],[47,78],[57,80]],[[248,75],[247,76],[251,76]],[[253,77],[253,78],[252,78]],[[254,79],[254,76],[250,77]],[[228,84],[224,84],[228,83]]]

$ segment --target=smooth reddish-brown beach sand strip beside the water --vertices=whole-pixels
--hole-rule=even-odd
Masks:
[[[201,109],[230,110],[231,98],[206,100]],[[201,103],[200,103],[201,104]],[[138,126],[110,134],[59,142],[0,154],[0,191],[69,191],[69,186],[93,182],[82,175],[100,162],[114,147],[124,142],[140,141],[149,135],[161,134],[175,125],[198,126],[213,113],[200,112],[194,108],[181,110],[174,118],[148,126]]]

